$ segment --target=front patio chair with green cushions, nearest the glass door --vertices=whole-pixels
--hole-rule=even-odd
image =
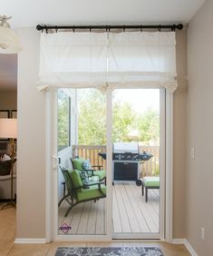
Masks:
[[[106,197],[106,187],[103,182],[91,182],[86,185],[82,183],[80,172],[76,170],[67,170],[60,167],[63,173],[63,178],[67,187],[68,196],[70,197],[70,207],[65,213],[67,217],[73,206],[80,202],[88,202],[99,200]]]

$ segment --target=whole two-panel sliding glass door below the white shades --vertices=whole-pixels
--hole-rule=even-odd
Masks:
[[[55,240],[160,239],[164,90],[60,88],[56,98]]]

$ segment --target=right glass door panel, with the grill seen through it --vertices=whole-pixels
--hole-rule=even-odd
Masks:
[[[113,92],[112,142],[113,238],[159,235],[159,89]]]

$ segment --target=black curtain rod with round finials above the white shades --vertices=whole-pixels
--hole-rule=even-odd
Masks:
[[[56,32],[58,29],[105,29],[106,31],[111,31],[111,29],[170,29],[171,31],[175,31],[176,29],[181,30],[183,28],[182,24],[179,25],[36,25],[37,30],[41,30],[42,32],[45,30],[46,33],[48,29],[55,29]]]

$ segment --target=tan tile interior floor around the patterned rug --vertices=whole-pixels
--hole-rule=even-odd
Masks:
[[[50,242],[45,244],[15,244],[16,223],[15,208],[5,208],[0,211],[0,255],[20,256],[53,256],[60,246],[151,246],[156,245],[164,253],[164,256],[189,256],[186,247],[181,244],[170,244],[167,242],[144,242],[144,241],[110,241],[110,242]]]

